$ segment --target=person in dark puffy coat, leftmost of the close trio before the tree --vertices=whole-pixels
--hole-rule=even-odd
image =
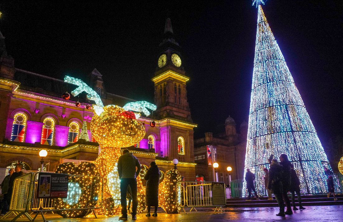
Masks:
[[[268,175],[268,186],[267,188],[272,190],[275,195],[277,204],[279,205],[280,211],[276,216],[285,216],[285,205],[283,204],[282,194],[283,185],[282,177],[284,173],[284,168],[277,162],[276,159],[272,159]]]

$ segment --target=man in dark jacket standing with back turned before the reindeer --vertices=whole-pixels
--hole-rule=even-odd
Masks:
[[[128,186],[131,188],[132,195],[132,220],[136,220],[137,214],[137,180],[136,177],[141,171],[141,164],[137,157],[133,156],[128,149],[123,150],[123,155],[118,160],[118,174],[120,179],[120,203],[121,203],[121,217],[119,220],[127,220],[127,204],[126,193]],[[137,167],[137,170],[136,170]]]

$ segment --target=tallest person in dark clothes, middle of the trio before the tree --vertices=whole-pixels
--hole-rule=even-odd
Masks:
[[[291,188],[291,180],[292,180],[292,174],[291,174],[291,161],[288,160],[288,157],[286,154],[281,154],[280,155],[280,165],[283,166],[284,168],[284,175],[282,177],[282,197],[283,200],[285,201],[287,210],[285,214],[293,214],[292,208],[291,208],[291,201],[289,201],[287,192],[290,191],[289,189]]]

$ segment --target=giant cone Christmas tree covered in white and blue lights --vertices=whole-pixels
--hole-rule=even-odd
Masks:
[[[268,158],[282,153],[294,164],[301,192],[326,192],[328,158],[260,4],[251,88],[245,172],[255,173],[257,192],[265,193]]]

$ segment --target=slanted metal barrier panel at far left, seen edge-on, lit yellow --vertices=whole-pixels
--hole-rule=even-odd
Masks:
[[[9,211],[1,219],[5,219],[14,214],[15,218],[12,221],[15,221],[22,215],[27,217],[29,221],[33,221],[32,217],[27,213],[33,190],[33,177],[33,173],[27,173],[15,178]]]

